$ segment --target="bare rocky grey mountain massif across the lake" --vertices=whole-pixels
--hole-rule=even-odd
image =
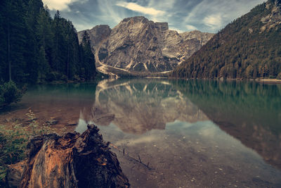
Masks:
[[[81,41],[85,31],[78,32]],[[88,33],[97,67],[129,73],[173,70],[213,36],[200,31],[178,33],[168,23],[154,23],[143,16],[125,18],[112,30],[97,25]]]

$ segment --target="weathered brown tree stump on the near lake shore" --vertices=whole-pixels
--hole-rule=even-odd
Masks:
[[[48,134],[28,144],[29,158],[11,165],[10,187],[129,187],[115,153],[98,128],[63,137]]]

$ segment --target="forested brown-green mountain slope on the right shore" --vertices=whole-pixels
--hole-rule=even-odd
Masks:
[[[253,8],[218,32],[173,77],[281,78],[281,1]]]

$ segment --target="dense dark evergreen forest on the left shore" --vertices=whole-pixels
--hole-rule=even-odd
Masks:
[[[79,46],[71,21],[61,18],[59,11],[51,18],[41,0],[1,1],[0,36],[0,80],[4,82],[58,80],[51,72],[62,80],[74,80],[74,75],[90,80],[96,75],[94,58],[93,65],[85,63],[93,54]]]

